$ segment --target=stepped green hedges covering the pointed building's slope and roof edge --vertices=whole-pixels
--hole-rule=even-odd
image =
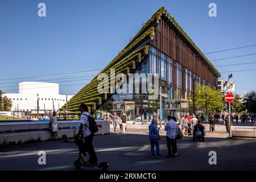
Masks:
[[[143,55],[148,53],[148,46],[143,46],[139,48],[147,40],[154,39],[155,24],[159,23],[162,16],[165,15],[171,20],[179,29],[179,31],[191,42],[191,44],[197,49],[198,52],[204,57],[204,59],[210,63],[207,57],[200,51],[200,49],[193,43],[192,39],[184,32],[176,20],[167,13],[164,7],[161,7],[152,17],[144,24],[141,30],[134,36],[134,38],[127,44],[125,48],[100,72],[106,73],[110,77],[110,69],[115,69],[115,75],[118,73],[129,73],[130,69],[136,67],[136,63],[143,58]],[[216,68],[212,65],[212,68],[220,74]],[[99,73],[99,74],[100,74]],[[98,75],[97,75],[98,76]],[[93,78],[92,81],[84,88],[82,88],[71,100],[68,102],[68,110],[73,111],[76,114],[80,114],[78,107],[81,103],[85,103],[89,106],[89,110],[96,109],[97,105],[101,105],[102,101],[108,99],[108,94],[98,93],[97,87],[101,81],[97,80],[97,76]],[[110,84],[110,83],[109,83]],[[66,105],[64,105],[61,110],[65,110]]]

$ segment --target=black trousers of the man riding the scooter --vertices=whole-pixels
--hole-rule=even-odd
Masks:
[[[92,144],[93,137],[94,137],[94,133],[91,133],[88,137],[84,137],[84,146],[85,146],[85,151],[88,151],[90,156],[89,163],[97,164],[97,156]]]

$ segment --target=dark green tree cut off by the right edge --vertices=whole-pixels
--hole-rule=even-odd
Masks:
[[[256,92],[251,90],[249,93],[245,94],[243,98],[243,105],[249,111],[249,113],[256,114]]]

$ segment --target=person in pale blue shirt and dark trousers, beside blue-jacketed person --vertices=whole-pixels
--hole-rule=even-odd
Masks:
[[[167,141],[167,148],[168,148],[168,155],[166,158],[174,158],[175,157],[175,138],[178,134],[178,126],[174,119],[171,118],[169,115],[167,117],[168,122],[166,126],[164,126],[164,130],[166,131],[166,141]]]

